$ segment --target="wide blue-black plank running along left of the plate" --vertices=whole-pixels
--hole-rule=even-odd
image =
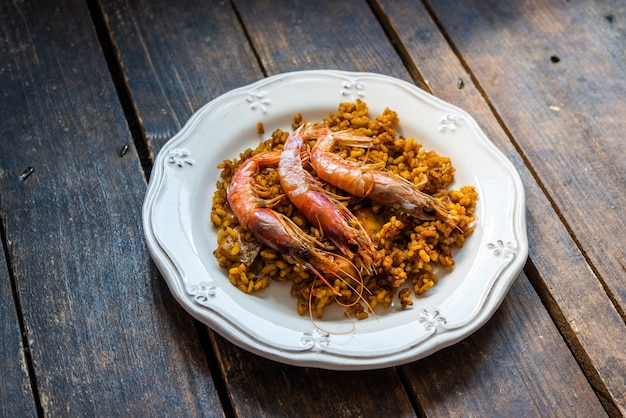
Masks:
[[[0,6],[0,218],[42,411],[219,416],[144,246],[145,181],[90,22],[81,1]]]

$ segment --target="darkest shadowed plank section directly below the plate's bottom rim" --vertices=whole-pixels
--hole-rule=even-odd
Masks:
[[[416,416],[393,368],[358,373],[301,368],[261,359],[223,338],[215,344],[238,416]]]

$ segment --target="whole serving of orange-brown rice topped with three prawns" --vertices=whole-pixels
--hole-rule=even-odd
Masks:
[[[364,102],[340,103],[323,121],[297,113],[297,134],[275,129],[239,158],[220,163],[211,222],[218,229],[214,255],[230,282],[248,294],[273,281],[290,283],[297,313],[308,312],[315,324],[313,317],[321,319],[331,305],[359,320],[388,309],[394,299],[404,309],[412,295],[424,294],[453,269],[454,249],[474,230],[478,193],[473,186],[450,190],[450,159],[396,135],[398,123],[391,109],[374,118]],[[281,157],[289,167],[282,177]],[[324,200],[317,192],[328,193],[324,199],[333,208],[319,203]],[[309,220],[311,202],[320,206],[308,210],[315,215]],[[373,242],[373,263],[361,256],[368,246],[346,244],[342,252],[322,229],[345,227],[336,217],[325,218],[343,207],[359,221],[347,220],[356,239],[363,228]]]

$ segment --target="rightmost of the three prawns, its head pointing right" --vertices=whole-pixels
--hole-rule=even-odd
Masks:
[[[404,177],[381,170],[381,164],[360,164],[332,152],[336,142],[368,148],[372,141],[370,137],[327,128],[310,152],[311,166],[319,178],[355,196],[367,197],[421,220],[433,220],[437,214],[451,218],[443,202]]]

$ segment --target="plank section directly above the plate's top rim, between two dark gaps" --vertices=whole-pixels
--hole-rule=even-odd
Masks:
[[[366,2],[234,3],[268,74],[340,69],[410,79]]]

